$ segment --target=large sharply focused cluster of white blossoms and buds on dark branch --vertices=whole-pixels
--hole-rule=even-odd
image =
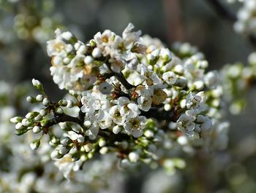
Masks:
[[[57,29],[47,46],[50,73],[69,95],[53,102],[33,79],[41,93],[26,100],[41,109],[11,119],[18,135],[39,136],[33,150],[48,136],[50,157],[66,178],[97,154],[111,153],[122,168],[145,162],[173,171],[184,167],[173,164],[173,146],[226,140],[219,138],[226,135],[220,76],[206,73],[203,54],[189,44],[176,44],[171,52],[133,28],[129,23],[122,36],[97,33],[87,44]]]

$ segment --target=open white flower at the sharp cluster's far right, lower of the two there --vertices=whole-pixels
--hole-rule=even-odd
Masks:
[[[186,133],[187,135],[193,135],[195,129],[195,117],[188,114],[182,114],[181,117],[177,120],[176,127],[181,132]]]

